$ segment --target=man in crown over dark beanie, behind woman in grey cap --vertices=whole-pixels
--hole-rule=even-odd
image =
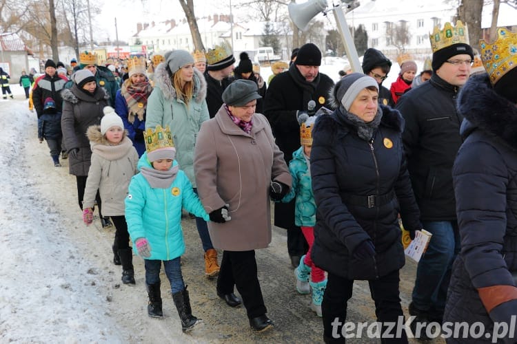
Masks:
[[[207,51],[207,71],[205,79],[207,83],[206,105],[208,115],[213,118],[221,105],[223,105],[223,92],[234,78],[230,75],[234,70],[235,58],[232,47],[227,44],[216,45],[214,49]]]

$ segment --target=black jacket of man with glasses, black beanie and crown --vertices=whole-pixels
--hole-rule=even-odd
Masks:
[[[429,83],[403,94],[396,109],[405,119],[407,169],[422,221],[454,221],[452,164],[463,142],[456,111],[459,88],[433,74]]]

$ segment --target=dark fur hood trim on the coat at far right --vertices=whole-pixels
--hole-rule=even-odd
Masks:
[[[487,74],[467,80],[458,96],[458,111],[465,117],[462,136],[478,128],[517,149],[517,106],[494,91]]]

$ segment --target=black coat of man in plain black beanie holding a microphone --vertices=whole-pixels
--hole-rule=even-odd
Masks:
[[[264,100],[264,115],[270,121],[276,144],[283,151],[289,165],[292,153],[300,148],[300,125],[296,110],[307,110],[307,103],[314,100],[315,111],[320,107],[330,108],[329,93],[334,81],[319,73],[312,83],[307,83],[296,65],[287,72],[275,76],[267,88]],[[274,224],[281,228],[294,228],[294,200],[274,204]]]

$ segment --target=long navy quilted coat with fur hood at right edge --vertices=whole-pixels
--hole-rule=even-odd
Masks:
[[[458,110],[465,116],[465,142],[452,173],[461,252],[452,268],[444,321],[480,321],[485,332],[492,333],[494,321],[509,323],[511,315],[517,315],[517,288],[511,277],[517,272],[517,107],[496,94],[483,74],[467,81]],[[481,294],[490,297],[482,302]],[[488,314],[490,303],[500,304]],[[491,339],[475,341],[494,343]],[[515,341],[506,338],[504,343]]]

